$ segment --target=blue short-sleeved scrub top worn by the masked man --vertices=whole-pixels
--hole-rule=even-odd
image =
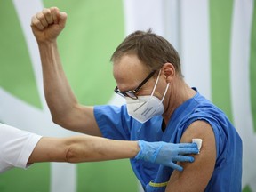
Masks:
[[[180,105],[162,131],[162,116],[154,116],[140,124],[127,114],[126,105],[96,106],[94,116],[100,132],[113,140],[146,140],[180,143],[183,132],[196,120],[212,126],[215,135],[217,158],[212,178],[204,191],[241,191],[242,140],[228,117],[198,92]],[[145,191],[164,192],[172,168],[131,159],[133,172]]]

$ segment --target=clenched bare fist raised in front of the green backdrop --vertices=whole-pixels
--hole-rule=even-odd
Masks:
[[[57,7],[44,8],[31,19],[31,28],[38,43],[56,41],[65,27],[67,13],[60,12]]]

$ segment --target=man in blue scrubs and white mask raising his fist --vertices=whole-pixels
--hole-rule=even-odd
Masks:
[[[55,123],[114,140],[202,139],[195,162],[178,163],[184,167],[182,172],[131,159],[145,191],[241,191],[242,140],[220,108],[186,84],[172,44],[150,31],[127,36],[111,57],[115,92],[126,104],[82,106],[70,89],[57,49],[66,19],[65,12],[50,8],[31,21],[42,60],[45,98]]]

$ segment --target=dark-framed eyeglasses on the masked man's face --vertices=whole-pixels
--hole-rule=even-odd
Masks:
[[[140,91],[140,88],[146,84],[148,82],[148,80],[151,78],[151,76],[153,76],[154,74],[156,73],[156,70],[152,71],[140,84],[139,86],[134,89],[134,90],[129,90],[129,91],[125,91],[125,92],[121,92],[117,86],[114,90],[114,92],[116,92],[117,94],[119,94],[120,96],[122,97],[129,97],[129,98],[132,98],[133,100],[137,100],[138,99],[138,96],[136,95],[137,92]]]

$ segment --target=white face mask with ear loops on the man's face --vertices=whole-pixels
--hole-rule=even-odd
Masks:
[[[156,84],[158,83],[159,75],[160,72],[157,76]],[[129,97],[125,98],[128,115],[132,116],[132,118],[136,119],[141,124],[147,122],[153,116],[162,115],[164,113],[163,100],[168,90],[169,84],[167,84],[165,88],[162,100],[159,100],[156,96],[153,95],[156,90],[156,84],[151,95],[138,96],[137,100],[133,100]]]

